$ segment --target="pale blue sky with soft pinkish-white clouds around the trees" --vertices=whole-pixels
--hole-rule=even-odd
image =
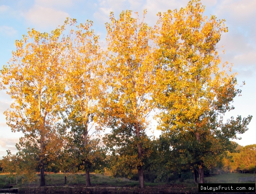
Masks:
[[[225,118],[252,115],[249,130],[235,140],[240,145],[256,144],[256,0],[201,0],[205,15],[215,15],[225,19],[229,32],[222,35],[218,51],[222,63],[233,64],[233,71],[241,87],[242,96],[234,99],[235,110],[225,114]],[[145,22],[154,26],[158,12],[185,7],[188,0],[0,0],[0,69],[7,64],[15,50],[15,40],[20,40],[27,29],[50,32],[62,25],[67,17],[76,18],[78,23],[93,21],[93,29],[105,43],[105,23],[110,12],[118,17],[122,10],[132,10],[143,14],[147,9]],[[222,48],[222,46],[224,46]],[[225,54],[222,53],[225,49]],[[0,159],[6,150],[15,153],[15,144],[22,133],[12,133],[6,125],[3,112],[9,108],[12,99],[6,91],[0,91]],[[154,125],[152,125],[152,130]],[[154,131],[158,136],[160,131]]]

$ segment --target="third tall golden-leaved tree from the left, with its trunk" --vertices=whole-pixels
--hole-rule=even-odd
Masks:
[[[111,12],[111,22],[106,23],[109,93],[103,117],[113,133],[118,131],[116,136],[131,133],[136,153],[130,156],[137,158],[140,188],[144,188],[143,158],[148,154],[144,151],[146,119],[152,110],[150,93],[155,85],[153,30],[135,14],[137,18],[131,17],[131,11],[125,11],[116,19]]]

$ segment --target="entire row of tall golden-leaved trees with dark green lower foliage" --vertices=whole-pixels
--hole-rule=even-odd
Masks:
[[[224,20],[203,13],[192,0],[158,13],[151,27],[146,11],[142,20],[111,12],[106,48],[92,21],[67,19],[51,33],[29,29],[0,74],[14,101],[4,112],[7,125],[24,135],[18,152],[1,160],[3,171],[29,180],[40,172],[40,186],[45,171],[83,171],[87,186],[94,171],[137,176],[140,188],[145,179],[186,172],[204,183],[204,172],[233,154],[230,139],[248,130],[252,116],[223,119],[241,90],[231,66],[220,65]],[[146,133],[153,113],[157,139]]]

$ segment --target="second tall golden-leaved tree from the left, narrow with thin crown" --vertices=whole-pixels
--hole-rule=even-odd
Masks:
[[[86,185],[90,186],[89,170],[100,157],[103,150],[99,140],[92,139],[101,129],[97,124],[96,113],[99,100],[104,96],[103,53],[99,45],[99,36],[94,35],[91,21],[75,26],[76,20],[67,20],[74,26],[67,34],[67,57],[65,64],[65,83],[67,87],[67,118],[64,121],[70,128],[73,149],[83,162],[86,172]],[[81,136],[83,138],[81,139]],[[78,162],[79,162],[78,161]]]

